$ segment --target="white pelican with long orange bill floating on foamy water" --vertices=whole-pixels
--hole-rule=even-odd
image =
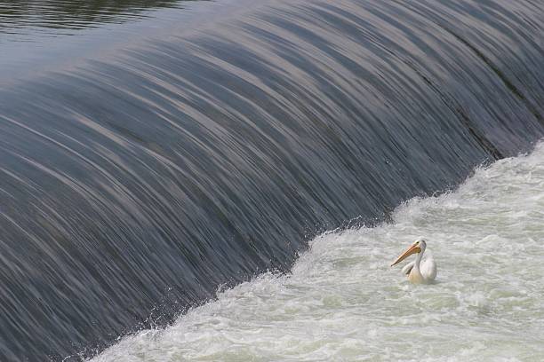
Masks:
[[[412,245],[404,250],[404,253],[396,258],[396,261],[391,264],[394,266],[402,262],[406,257],[417,253],[416,260],[404,266],[402,272],[408,275],[408,280],[414,284],[427,284],[436,278],[436,263],[433,256],[428,255],[421,263],[423,253],[427,248],[427,241],[423,238],[415,240]]]

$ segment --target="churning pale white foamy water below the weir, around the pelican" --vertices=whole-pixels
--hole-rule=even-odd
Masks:
[[[544,360],[544,144],[393,217],[326,233],[291,275],[220,292],[94,361]],[[419,236],[433,285],[389,267]]]

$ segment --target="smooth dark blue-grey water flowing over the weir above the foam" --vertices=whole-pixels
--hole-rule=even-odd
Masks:
[[[0,8],[1,360],[163,326],[544,133],[540,2],[83,4]]]

